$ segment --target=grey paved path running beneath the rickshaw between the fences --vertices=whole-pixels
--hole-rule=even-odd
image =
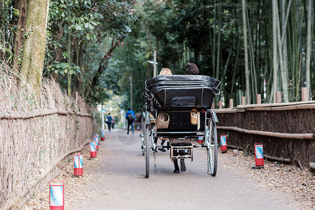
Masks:
[[[105,151],[99,157],[102,167],[91,172],[96,181],[78,187],[93,190],[94,197],[66,209],[302,209],[286,194],[271,192],[222,167],[220,158],[216,176],[210,176],[203,149],[194,150],[194,162],[186,160],[187,171],[180,174],[173,173],[169,153],[162,152],[154,173],[151,155],[148,179],[139,133],[106,132],[100,150]]]

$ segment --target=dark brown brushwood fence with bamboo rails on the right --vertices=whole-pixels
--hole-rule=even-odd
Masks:
[[[315,161],[315,102],[261,104],[217,109],[218,135],[253,153],[261,142],[264,155],[308,167]]]

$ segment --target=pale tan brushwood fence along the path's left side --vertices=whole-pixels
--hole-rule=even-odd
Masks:
[[[0,69],[1,70],[1,69]],[[92,111],[46,80],[38,98],[0,73],[0,209],[95,132]],[[20,117],[19,117],[20,116]]]

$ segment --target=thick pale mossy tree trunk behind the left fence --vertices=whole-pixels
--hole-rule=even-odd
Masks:
[[[22,78],[19,85],[25,87],[26,83],[29,83],[37,95],[41,90],[43,77],[48,8],[49,0],[29,0],[27,3],[21,64]]]

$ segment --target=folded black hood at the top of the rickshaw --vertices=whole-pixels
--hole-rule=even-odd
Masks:
[[[203,75],[155,76],[146,81],[146,100],[158,111],[210,109],[220,83]]]

